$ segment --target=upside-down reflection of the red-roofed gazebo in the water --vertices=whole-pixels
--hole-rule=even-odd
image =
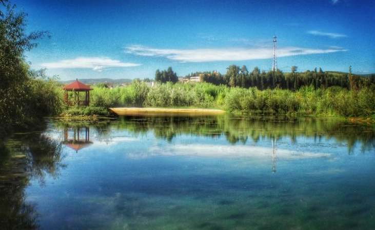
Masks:
[[[92,144],[90,141],[90,127],[65,127],[63,144],[75,150],[81,150]]]

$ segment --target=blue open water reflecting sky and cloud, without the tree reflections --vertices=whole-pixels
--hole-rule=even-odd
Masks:
[[[27,200],[44,229],[374,225],[375,154],[359,144],[348,154],[345,141],[303,135],[232,144],[224,135],[108,133],[91,129],[91,145],[64,149],[57,179],[31,181]]]

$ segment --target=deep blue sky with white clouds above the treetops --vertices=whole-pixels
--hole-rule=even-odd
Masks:
[[[230,65],[375,72],[375,0],[11,0],[50,39],[27,53],[61,80],[226,72]]]

